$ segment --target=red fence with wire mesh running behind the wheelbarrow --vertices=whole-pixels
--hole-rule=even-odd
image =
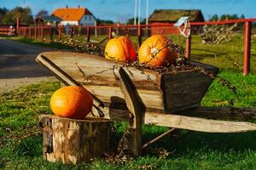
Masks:
[[[247,75],[250,69],[256,72],[254,40],[256,31],[253,27],[255,21],[256,19],[192,22],[192,35],[189,38],[179,35],[173,23],[140,26],[76,26],[69,27],[68,30],[66,27],[20,27],[18,34],[30,40],[48,42],[67,41],[68,34],[102,44],[113,35],[128,34],[139,47],[150,35],[163,32],[185,48],[185,57],[224,69],[242,70],[243,74]],[[210,30],[210,33],[207,33],[207,30]],[[211,42],[206,38],[209,36],[207,34],[219,37]]]

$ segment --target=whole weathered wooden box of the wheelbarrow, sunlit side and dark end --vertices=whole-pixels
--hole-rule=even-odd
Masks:
[[[125,104],[113,70],[124,63],[104,59],[90,54],[47,52],[39,54],[37,61],[48,67],[62,82],[79,82],[94,94],[96,99],[107,104]],[[217,74],[218,69],[210,65],[201,66]],[[201,98],[212,82],[200,71],[178,71],[159,74],[142,67],[125,66],[137,93],[147,108],[164,112],[179,111],[200,105]]]

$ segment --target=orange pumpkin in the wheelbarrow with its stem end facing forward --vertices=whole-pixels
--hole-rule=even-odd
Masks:
[[[174,65],[178,54],[175,50],[167,47],[167,41],[167,38],[163,35],[148,37],[139,48],[139,62],[151,68],[168,64]]]

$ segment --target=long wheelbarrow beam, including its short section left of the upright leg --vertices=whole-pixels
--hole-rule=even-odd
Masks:
[[[110,118],[111,120],[129,120],[129,111],[105,107],[103,112],[105,118]],[[160,114],[148,110],[143,115],[143,123],[207,133],[241,133],[256,130],[256,125],[251,122],[219,121],[201,117],[175,115],[175,113]]]

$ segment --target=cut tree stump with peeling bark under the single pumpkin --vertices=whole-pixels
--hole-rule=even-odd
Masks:
[[[44,115],[40,124],[47,161],[76,164],[108,152],[110,121],[107,119],[73,120]]]

